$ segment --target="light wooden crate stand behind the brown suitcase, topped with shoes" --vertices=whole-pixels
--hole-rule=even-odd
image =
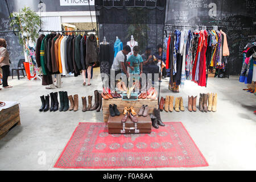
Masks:
[[[122,98],[113,98],[110,100],[102,99],[102,109],[103,109],[103,120],[108,122],[109,119],[109,105],[117,105],[117,109],[122,115],[123,108],[127,106],[132,106],[135,109],[135,112],[138,113],[142,105],[148,105],[148,114],[153,113],[154,108],[158,109],[157,100],[148,100],[139,98],[137,101],[123,101]]]

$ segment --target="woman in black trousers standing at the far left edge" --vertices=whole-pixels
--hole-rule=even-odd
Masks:
[[[12,88],[12,86],[8,85],[8,76],[10,72],[10,63],[9,63],[9,52],[6,49],[6,41],[5,39],[0,39],[0,67],[2,68],[2,81],[3,88]]]

